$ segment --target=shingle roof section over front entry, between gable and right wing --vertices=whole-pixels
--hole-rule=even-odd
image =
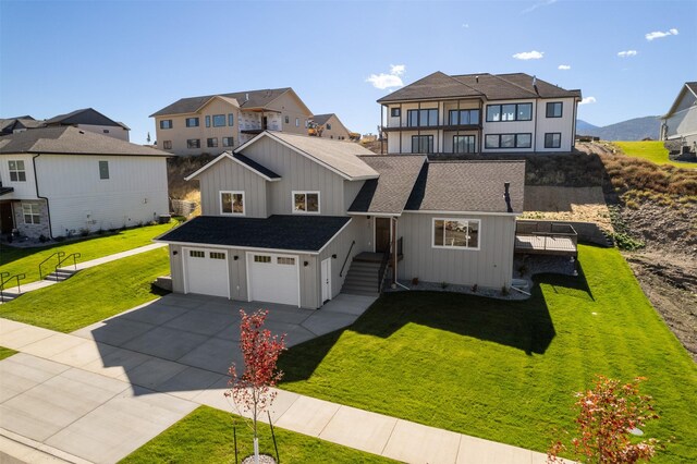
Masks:
[[[348,212],[402,213],[426,157],[395,155],[364,156],[360,159],[378,171],[380,178],[363,185]]]

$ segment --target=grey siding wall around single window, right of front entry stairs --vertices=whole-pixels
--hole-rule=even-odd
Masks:
[[[479,219],[479,249],[435,248],[433,218]],[[501,289],[513,276],[515,217],[405,212],[398,222],[404,259],[399,278]]]

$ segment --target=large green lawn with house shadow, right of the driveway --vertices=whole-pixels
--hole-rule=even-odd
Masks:
[[[645,376],[661,416],[646,435],[674,437],[656,462],[697,462],[697,366],[617,251],[579,246],[579,278],[540,277],[526,302],[383,295],[286,352],[281,388],[545,452],[596,374]]]

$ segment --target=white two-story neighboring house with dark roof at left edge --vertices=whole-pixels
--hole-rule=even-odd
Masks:
[[[2,136],[0,229],[50,239],[158,220],[168,156],[73,126]]]

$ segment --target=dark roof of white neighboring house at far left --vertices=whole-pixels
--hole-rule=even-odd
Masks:
[[[0,154],[171,155],[72,125],[39,127],[0,137]]]

